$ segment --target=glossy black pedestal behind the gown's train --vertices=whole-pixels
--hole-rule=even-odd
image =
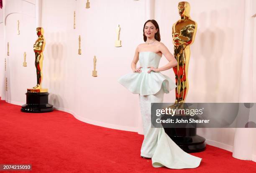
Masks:
[[[205,150],[205,138],[197,135],[197,128],[164,128],[164,131],[187,153]]]

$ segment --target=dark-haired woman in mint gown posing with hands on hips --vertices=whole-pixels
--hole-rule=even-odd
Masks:
[[[151,127],[151,103],[163,102],[164,93],[169,93],[176,85],[160,71],[177,66],[177,61],[168,48],[160,42],[159,25],[156,20],[148,20],[143,27],[145,43],[137,46],[131,68],[133,74],[126,74],[118,81],[133,94],[139,94],[143,120],[144,140],[141,146],[141,157],[151,158],[154,167],[182,169],[196,168],[201,158],[184,152],[166,135],[164,128]],[[164,54],[168,64],[158,68]],[[136,64],[140,61],[140,67]]]

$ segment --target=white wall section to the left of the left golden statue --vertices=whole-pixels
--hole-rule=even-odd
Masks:
[[[34,0],[7,0],[5,1],[5,51],[2,62],[6,58],[6,77],[8,92],[2,90],[2,94],[8,102],[20,104],[24,102],[24,92],[28,85],[36,81],[33,73],[35,71],[33,47],[31,43],[36,39],[35,28],[35,5]],[[17,35],[19,20],[20,35]],[[9,42],[10,56],[7,56],[7,43]],[[33,45],[32,45],[33,46]],[[27,54],[27,67],[23,67],[23,54]],[[29,61],[32,60],[32,61]],[[26,100],[26,98],[25,98]]]

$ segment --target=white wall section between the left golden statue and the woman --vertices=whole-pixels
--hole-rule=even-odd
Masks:
[[[131,72],[131,58],[141,43],[144,2],[95,0],[89,9],[84,5],[82,0],[43,2],[42,26],[48,43],[44,86],[52,93],[50,102],[79,120],[136,131],[138,96],[128,94],[117,79]],[[114,47],[118,24],[120,48]],[[77,54],[79,35],[82,55]],[[98,77],[92,77],[94,55]]]

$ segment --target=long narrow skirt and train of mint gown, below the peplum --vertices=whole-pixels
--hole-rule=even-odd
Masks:
[[[141,115],[143,121],[144,140],[141,146],[141,156],[151,158],[153,167],[172,169],[196,168],[201,158],[184,152],[164,132],[164,128],[151,127],[151,103],[161,103],[164,99],[164,89],[154,94],[139,95]]]

